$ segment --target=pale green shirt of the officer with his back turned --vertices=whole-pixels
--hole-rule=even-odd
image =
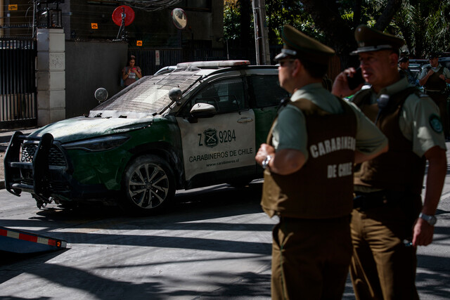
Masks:
[[[329,91],[323,89],[321,83],[308,84],[293,93],[290,100],[301,98],[311,100],[322,110],[331,114],[342,113],[340,101]],[[356,150],[366,155],[378,152],[387,145],[387,138],[369,120],[356,105],[349,103],[356,115]],[[327,130],[320,128],[318,130]],[[300,150],[305,159],[308,159],[308,135],[303,112],[294,105],[282,107],[278,113],[278,119],[274,124],[272,143],[276,150],[295,149]]]

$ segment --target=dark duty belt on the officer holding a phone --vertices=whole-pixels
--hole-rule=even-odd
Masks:
[[[354,194],[353,208],[362,210],[399,204],[405,197],[405,193],[403,192],[387,190],[380,190],[373,193],[355,192]]]

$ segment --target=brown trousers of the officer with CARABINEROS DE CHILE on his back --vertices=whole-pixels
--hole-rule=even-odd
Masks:
[[[352,256],[349,216],[281,218],[273,239],[272,299],[342,299]]]

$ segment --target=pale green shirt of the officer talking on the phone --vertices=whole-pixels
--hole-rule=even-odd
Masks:
[[[385,87],[380,93],[371,93],[371,104],[382,94],[393,95],[408,88],[408,80],[401,78],[396,83]],[[443,127],[432,126],[432,119],[439,116],[439,108],[430,97],[423,94],[417,96],[415,93],[406,98],[401,107],[399,127],[406,139],[413,142],[413,152],[422,157],[430,148],[438,145],[446,150]]]

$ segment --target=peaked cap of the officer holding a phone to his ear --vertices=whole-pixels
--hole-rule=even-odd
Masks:
[[[389,49],[398,51],[405,44],[404,40],[399,37],[375,30],[366,25],[356,27],[354,38],[356,39],[356,43],[358,43],[358,48],[356,51],[350,53],[352,55]]]

